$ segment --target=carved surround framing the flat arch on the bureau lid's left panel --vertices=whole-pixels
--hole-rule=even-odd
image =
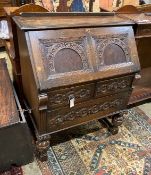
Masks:
[[[58,38],[58,39],[39,39],[42,58],[45,69],[48,75],[56,74],[54,65],[56,54],[62,50],[70,49],[77,53],[82,62],[82,70],[89,70],[89,63],[87,60],[87,52],[85,46],[85,37],[81,38]],[[68,55],[66,55],[68,57]]]

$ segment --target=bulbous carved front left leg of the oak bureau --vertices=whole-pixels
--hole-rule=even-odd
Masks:
[[[41,161],[47,161],[47,151],[50,146],[49,140],[42,140],[36,142],[36,155]]]

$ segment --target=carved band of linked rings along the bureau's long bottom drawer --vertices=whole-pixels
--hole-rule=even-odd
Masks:
[[[100,104],[93,104],[92,106],[88,107],[81,107],[79,109],[71,109],[70,111],[67,111],[66,114],[61,113],[59,110],[58,112],[55,112],[56,116],[53,119],[49,120],[49,126],[55,126],[63,124],[67,121],[73,121],[76,119],[80,119],[83,117],[87,117],[92,114],[96,114],[99,112],[107,111],[111,108],[120,109],[120,107],[125,104],[125,99],[117,98],[112,100],[106,100],[105,102],[100,102]]]

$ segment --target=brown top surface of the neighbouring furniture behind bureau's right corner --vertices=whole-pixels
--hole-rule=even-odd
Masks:
[[[130,19],[137,24],[151,24],[151,13],[121,14],[119,16]]]

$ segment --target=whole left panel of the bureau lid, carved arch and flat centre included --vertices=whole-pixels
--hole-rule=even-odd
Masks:
[[[40,49],[48,75],[78,70],[89,70],[86,38],[39,39]]]

